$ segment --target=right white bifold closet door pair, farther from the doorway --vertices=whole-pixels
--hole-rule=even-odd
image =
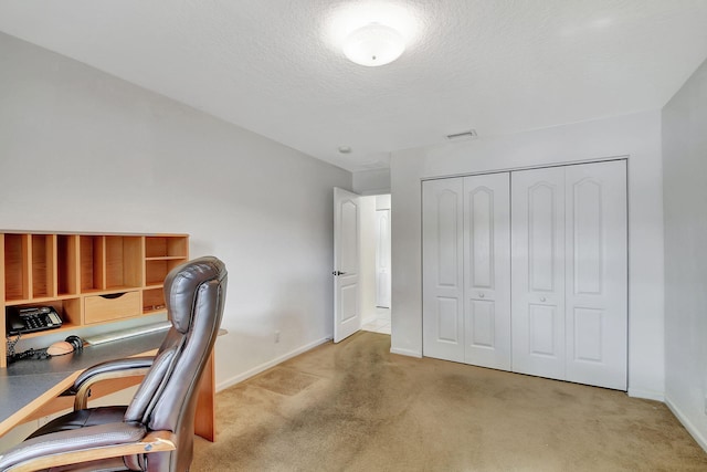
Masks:
[[[511,181],[513,370],[625,390],[625,161]]]

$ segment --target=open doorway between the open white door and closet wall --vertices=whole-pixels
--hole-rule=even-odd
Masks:
[[[361,329],[391,334],[390,193],[360,199]]]

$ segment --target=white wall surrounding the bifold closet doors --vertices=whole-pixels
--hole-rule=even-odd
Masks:
[[[663,399],[659,112],[393,153],[392,352],[422,354],[421,179],[629,157],[629,392]]]

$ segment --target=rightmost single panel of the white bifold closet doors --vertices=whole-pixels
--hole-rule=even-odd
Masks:
[[[567,195],[567,379],[626,389],[626,166],[570,166]]]

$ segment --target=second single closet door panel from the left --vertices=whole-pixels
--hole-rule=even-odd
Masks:
[[[464,178],[465,361],[510,369],[509,174]]]

